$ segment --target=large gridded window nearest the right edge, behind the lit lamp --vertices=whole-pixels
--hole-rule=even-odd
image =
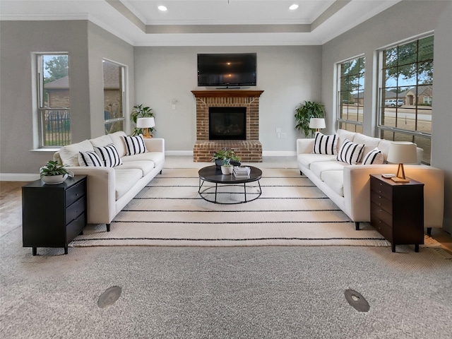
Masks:
[[[433,35],[380,52],[380,137],[411,141],[430,162],[432,138]]]

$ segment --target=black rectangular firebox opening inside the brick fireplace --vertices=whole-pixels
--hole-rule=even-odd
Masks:
[[[209,140],[246,140],[246,107],[209,107]]]

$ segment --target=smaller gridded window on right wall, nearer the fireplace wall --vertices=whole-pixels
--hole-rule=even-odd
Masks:
[[[338,64],[338,128],[362,133],[364,57]]]

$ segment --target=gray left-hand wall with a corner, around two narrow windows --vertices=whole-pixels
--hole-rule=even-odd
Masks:
[[[1,21],[0,25],[1,174],[37,174],[53,158],[54,150],[34,150],[32,52],[69,52],[73,143],[104,133],[102,58],[128,66],[126,113],[130,111],[134,95],[130,44],[88,20]]]

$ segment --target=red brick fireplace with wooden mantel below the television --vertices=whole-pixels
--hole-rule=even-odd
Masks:
[[[262,162],[259,97],[263,90],[192,90],[196,98],[194,162],[208,162],[220,148],[231,148],[243,162]],[[209,140],[209,107],[246,107],[245,140]]]

